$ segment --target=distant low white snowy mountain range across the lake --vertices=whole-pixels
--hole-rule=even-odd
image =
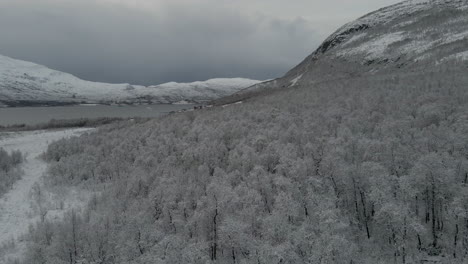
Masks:
[[[0,105],[203,102],[255,83],[258,81],[243,78],[171,82],[149,87],[99,83],[0,55]]]

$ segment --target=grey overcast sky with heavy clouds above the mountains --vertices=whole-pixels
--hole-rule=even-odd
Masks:
[[[92,81],[279,77],[399,0],[0,0],[0,54]]]

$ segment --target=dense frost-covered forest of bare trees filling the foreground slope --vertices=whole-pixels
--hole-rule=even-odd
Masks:
[[[47,185],[95,195],[32,227],[24,263],[467,263],[467,66],[55,142]]]

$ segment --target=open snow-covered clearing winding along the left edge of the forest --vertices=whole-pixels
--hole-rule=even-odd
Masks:
[[[82,134],[89,129],[68,129],[60,131],[32,131],[19,133],[0,133],[0,147],[7,151],[20,150],[26,156],[22,165],[24,174],[13,188],[0,198],[0,246],[15,241],[15,253],[24,249],[21,241],[18,241],[29,225],[40,219],[37,210],[34,210],[35,201],[31,195],[34,186],[41,182],[46,172],[47,164],[40,155],[47,149],[52,141]],[[76,194],[71,193],[72,196]],[[64,207],[66,209],[66,207]],[[52,217],[57,217],[60,212],[55,210]],[[11,252],[10,252],[11,253]],[[2,262],[0,256],[0,263]]]

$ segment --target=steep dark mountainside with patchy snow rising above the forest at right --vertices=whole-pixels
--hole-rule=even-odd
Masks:
[[[244,89],[224,102],[272,88],[466,61],[467,13],[466,0],[409,0],[382,8],[339,28],[284,77]]]

